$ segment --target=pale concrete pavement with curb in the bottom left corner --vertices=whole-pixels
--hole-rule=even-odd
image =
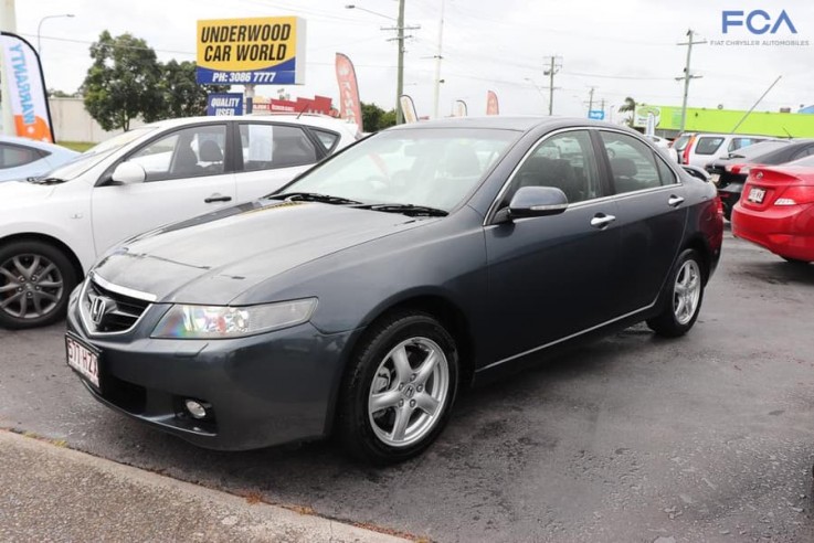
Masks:
[[[403,542],[0,430],[0,541]]]

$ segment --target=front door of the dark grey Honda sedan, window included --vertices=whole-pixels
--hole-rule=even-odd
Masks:
[[[606,196],[588,129],[543,138],[498,196],[499,210],[521,187],[556,187],[561,214],[485,227],[493,360],[584,331],[616,315],[616,204]]]

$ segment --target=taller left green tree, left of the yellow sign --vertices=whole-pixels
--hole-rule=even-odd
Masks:
[[[161,67],[147,42],[126,33],[102,32],[91,45],[93,65],[82,91],[85,108],[105,130],[128,130],[136,117],[149,123],[163,109]]]

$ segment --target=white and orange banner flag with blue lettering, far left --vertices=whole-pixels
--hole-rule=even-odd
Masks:
[[[0,32],[2,77],[8,82],[11,113],[18,136],[54,141],[51,110],[45,95],[40,56],[29,42],[11,32]]]

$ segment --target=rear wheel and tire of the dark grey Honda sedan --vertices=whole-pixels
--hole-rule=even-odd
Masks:
[[[695,249],[678,257],[662,297],[662,312],[647,320],[657,336],[677,338],[693,328],[704,301],[704,264]]]

